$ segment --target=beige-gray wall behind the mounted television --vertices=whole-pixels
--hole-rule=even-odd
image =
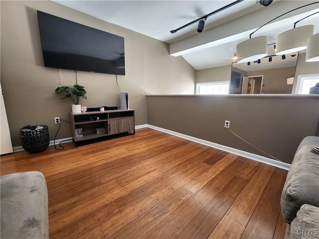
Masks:
[[[75,84],[75,72],[43,66],[36,10],[94,27],[125,38],[126,76],[119,76],[122,92],[129,93],[136,124],[147,122],[146,94],[193,94],[195,70],[181,56],[169,56],[167,43],[105,22],[49,0],[0,1],[1,86],[13,146],[21,145],[19,128],[46,124],[52,140],[54,117],[69,119],[71,101],[60,101],[54,90]],[[78,84],[86,87],[82,106],[117,106],[116,76],[78,72]],[[57,138],[71,136],[62,121]]]

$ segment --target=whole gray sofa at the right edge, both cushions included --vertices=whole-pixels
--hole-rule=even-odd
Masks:
[[[319,137],[302,140],[294,156],[281,196],[285,239],[319,239],[319,155],[312,152]]]

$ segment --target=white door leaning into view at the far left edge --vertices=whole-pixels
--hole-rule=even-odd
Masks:
[[[9,124],[8,119],[6,117],[6,111],[2,96],[2,88],[0,84],[0,109],[1,109],[1,115],[0,115],[0,154],[5,153],[12,153],[12,143],[11,143],[11,135],[9,130]]]

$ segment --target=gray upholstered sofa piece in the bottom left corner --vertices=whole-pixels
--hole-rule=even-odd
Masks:
[[[1,176],[1,239],[48,239],[48,192],[41,172]]]

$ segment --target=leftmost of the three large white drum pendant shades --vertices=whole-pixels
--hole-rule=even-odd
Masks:
[[[267,36],[258,36],[236,46],[237,63],[256,61],[268,55]]]

